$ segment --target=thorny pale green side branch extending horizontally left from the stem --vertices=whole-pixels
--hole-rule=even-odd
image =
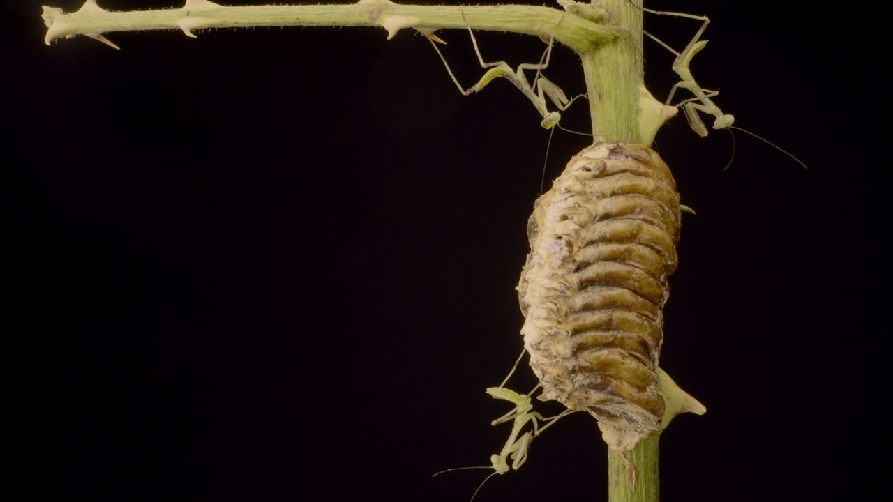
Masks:
[[[580,54],[611,42],[617,31],[572,13],[533,5],[399,5],[388,0],[360,0],[346,5],[256,5],[226,7],[208,0],[186,0],[179,9],[106,11],[87,0],[78,12],[44,7],[46,44],[56,38],[86,35],[114,46],[104,38],[113,31],[181,29],[195,37],[196,29],[256,26],[380,26],[393,38],[400,29],[488,29],[549,38]],[[467,24],[466,24],[467,21]],[[559,22],[560,21],[560,22]],[[557,30],[555,27],[558,27]],[[117,47],[116,47],[117,48]]]

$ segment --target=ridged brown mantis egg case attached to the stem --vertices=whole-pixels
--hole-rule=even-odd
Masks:
[[[647,146],[597,143],[575,155],[528,223],[522,334],[543,400],[598,420],[625,451],[661,423],[655,371],[680,204]]]

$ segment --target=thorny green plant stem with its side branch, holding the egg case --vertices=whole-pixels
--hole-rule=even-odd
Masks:
[[[388,38],[407,28],[431,36],[435,29],[469,27],[554,36],[580,54],[594,138],[649,145],[676,108],[658,103],[644,86],[641,8],[630,0],[604,0],[604,4],[610,19],[590,16],[599,21],[594,22],[584,19],[585,14],[580,17],[574,13],[582,11],[569,9],[565,13],[531,5],[400,5],[388,0],[361,0],[344,5],[227,7],[208,0],[185,0],[179,9],[113,13],[101,9],[96,0],[87,0],[76,13],[44,7],[44,21],[47,44],[56,38],[86,35],[110,46],[114,45],[104,34],[113,31],[181,29],[195,37],[193,31],[197,29],[255,26],[380,26],[388,30]],[[572,7],[592,8],[588,4]],[[625,453],[609,451],[609,502],[658,500],[659,436],[660,431],[655,431]]]

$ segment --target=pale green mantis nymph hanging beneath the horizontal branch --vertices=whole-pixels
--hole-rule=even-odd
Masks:
[[[444,66],[447,67],[447,73],[449,73],[450,79],[453,79],[453,83],[455,83],[455,87],[459,88],[459,92],[461,92],[464,96],[469,96],[474,92],[479,92],[480,89],[487,87],[487,84],[490,83],[491,80],[497,79],[499,77],[503,79],[507,79],[514,84],[514,87],[521,90],[524,96],[527,96],[530,99],[530,103],[536,107],[537,112],[542,115],[543,120],[540,122],[546,129],[552,129],[557,124],[558,121],[561,121],[561,113],[558,112],[550,112],[547,108],[546,96],[548,96],[549,100],[552,101],[555,106],[561,110],[567,110],[568,106],[572,105],[574,100],[576,100],[580,96],[574,96],[571,99],[568,99],[567,95],[564,94],[564,91],[552,83],[549,79],[542,76],[542,71],[546,70],[549,65],[549,58],[552,55],[552,46],[555,41],[555,31],[557,31],[558,26],[561,25],[561,20],[558,21],[558,24],[555,25],[555,30],[553,30],[551,37],[548,40],[548,46],[546,51],[543,53],[543,56],[539,59],[539,63],[522,63],[518,65],[517,70],[512,70],[512,68],[505,63],[505,61],[499,61],[497,63],[487,63],[484,61],[484,57],[480,54],[480,48],[478,48],[478,40],[474,38],[474,32],[472,31],[472,27],[468,24],[468,21],[465,20],[465,13],[462,13],[462,19],[465,21],[465,26],[468,28],[468,33],[472,37],[472,45],[474,46],[474,54],[478,55],[478,63],[480,63],[481,68],[489,68],[489,70],[484,73],[484,76],[478,80],[478,83],[474,84],[471,88],[464,89],[462,84],[459,83],[459,80],[455,78],[453,71],[450,69],[449,64],[447,64],[447,59],[443,54],[440,53],[440,49],[438,49],[437,44],[434,43],[434,40],[429,38],[431,42],[431,46],[434,46],[434,50],[438,52],[440,56],[440,60],[443,61]],[[563,19],[563,17],[562,17]],[[524,76],[524,70],[536,70],[537,73],[533,77],[533,85],[530,85],[530,82]]]

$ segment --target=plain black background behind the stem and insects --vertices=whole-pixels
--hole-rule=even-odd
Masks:
[[[108,35],[119,52],[45,46],[39,5],[0,11],[15,499],[468,500],[487,472],[431,474],[488,464],[510,429],[483,390],[522,347],[514,287],[548,140],[530,103],[506,81],[461,96],[410,31]],[[730,135],[681,117],[656,139],[698,213],[661,366],[708,408],[663,436],[663,499],[859,499],[889,434],[886,56],[801,4],[647,6],[709,15],[696,78],[809,165],[739,133],[723,171]],[[676,47],[697,27],[646,16]],[[467,35],[441,37],[471,86]],[[479,41],[512,65],[543,49]],[[646,47],[662,98],[672,54]],[[569,94],[575,57],[547,70]],[[581,102],[563,125],[587,122]],[[587,143],[556,133],[546,179]],[[510,387],[534,384],[525,364]],[[476,500],[600,501],[605,483],[575,414]]]

